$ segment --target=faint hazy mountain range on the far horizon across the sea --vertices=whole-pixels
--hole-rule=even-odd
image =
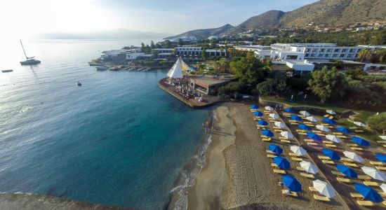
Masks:
[[[115,29],[109,31],[96,31],[88,33],[46,33],[38,34],[34,38],[44,39],[135,39],[135,38],[164,38],[171,34],[154,32],[133,31],[129,29]]]

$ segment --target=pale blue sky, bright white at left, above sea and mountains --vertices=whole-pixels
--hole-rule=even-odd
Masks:
[[[0,36],[130,29],[180,34],[317,0],[1,0]],[[6,31],[6,33],[4,33]]]

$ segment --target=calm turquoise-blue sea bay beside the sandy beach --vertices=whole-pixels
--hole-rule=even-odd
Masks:
[[[0,191],[161,209],[203,143],[208,110],[157,87],[167,70],[95,71],[102,50],[140,41],[26,41],[1,49]],[[4,45],[3,45],[4,46]],[[81,87],[75,85],[80,80]]]

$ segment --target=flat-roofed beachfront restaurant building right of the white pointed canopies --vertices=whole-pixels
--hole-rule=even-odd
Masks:
[[[218,89],[220,87],[225,86],[234,80],[236,80],[234,76],[228,73],[191,76],[189,78],[189,87],[204,94],[216,95],[218,94]]]

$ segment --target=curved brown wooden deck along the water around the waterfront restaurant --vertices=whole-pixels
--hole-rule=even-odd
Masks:
[[[167,78],[163,78],[159,80],[158,86],[161,87],[162,90],[165,90],[169,94],[173,95],[173,97],[176,97],[177,99],[179,99],[181,102],[184,102],[184,104],[186,104],[187,106],[190,106],[194,109],[200,109],[200,108],[212,106],[215,103],[225,101],[224,99],[220,99],[219,97],[213,97],[208,95],[204,96],[203,102],[199,102],[194,98],[187,99],[186,97],[182,96],[178,92],[175,92],[175,86],[169,85],[168,83],[166,83],[166,80]]]

